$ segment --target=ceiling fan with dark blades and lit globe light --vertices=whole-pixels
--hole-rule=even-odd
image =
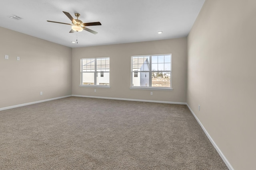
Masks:
[[[64,11],[62,11],[64,12]],[[75,13],[75,16],[77,19],[74,19],[68,12],[64,12],[64,14],[72,21],[71,23],[63,23],[63,22],[56,22],[56,21],[48,21],[48,22],[54,22],[54,23],[62,23],[62,24],[67,24],[67,25],[72,25],[71,30],[69,31],[70,33],[74,33],[75,31],[80,32],[86,30],[89,31],[90,33],[97,34],[96,31],[93,31],[92,29],[86,28],[86,26],[92,26],[92,25],[101,25],[100,22],[88,22],[88,23],[83,23],[81,20],[78,20],[80,17],[80,14]]]

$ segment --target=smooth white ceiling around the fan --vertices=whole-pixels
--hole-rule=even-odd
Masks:
[[[130,43],[186,37],[205,0],[3,0],[0,27],[5,27],[68,47]],[[62,12],[83,22],[100,21],[69,33],[72,23]],[[22,20],[8,16],[17,15]],[[158,31],[163,31],[158,34]],[[78,44],[71,43],[78,38]]]

